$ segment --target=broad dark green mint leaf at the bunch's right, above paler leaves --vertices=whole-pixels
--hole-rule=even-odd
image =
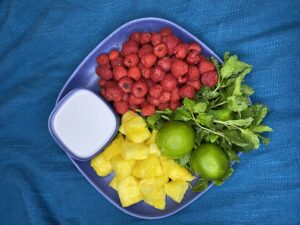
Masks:
[[[268,113],[268,108],[262,104],[255,104],[249,106],[245,111],[242,112],[242,118],[252,117],[252,125],[259,125]]]

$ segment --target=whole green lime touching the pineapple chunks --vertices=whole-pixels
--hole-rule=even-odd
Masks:
[[[156,136],[156,144],[161,153],[172,159],[178,159],[191,152],[195,134],[191,126],[172,121],[164,124]]]

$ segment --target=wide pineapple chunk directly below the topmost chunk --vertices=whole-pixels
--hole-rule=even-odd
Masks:
[[[149,154],[149,148],[145,144],[136,144],[125,140],[122,145],[122,156],[124,159],[146,159]]]

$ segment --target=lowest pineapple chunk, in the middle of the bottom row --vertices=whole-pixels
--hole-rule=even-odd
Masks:
[[[140,190],[144,201],[157,209],[166,207],[166,194],[162,186],[159,186],[156,178],[147,178],[140,181]]]

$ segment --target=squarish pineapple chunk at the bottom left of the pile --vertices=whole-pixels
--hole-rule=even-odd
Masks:
[[[128,207],[143,199],[138,180],[133,176],[119,180],[117,189],[123,207]]]

